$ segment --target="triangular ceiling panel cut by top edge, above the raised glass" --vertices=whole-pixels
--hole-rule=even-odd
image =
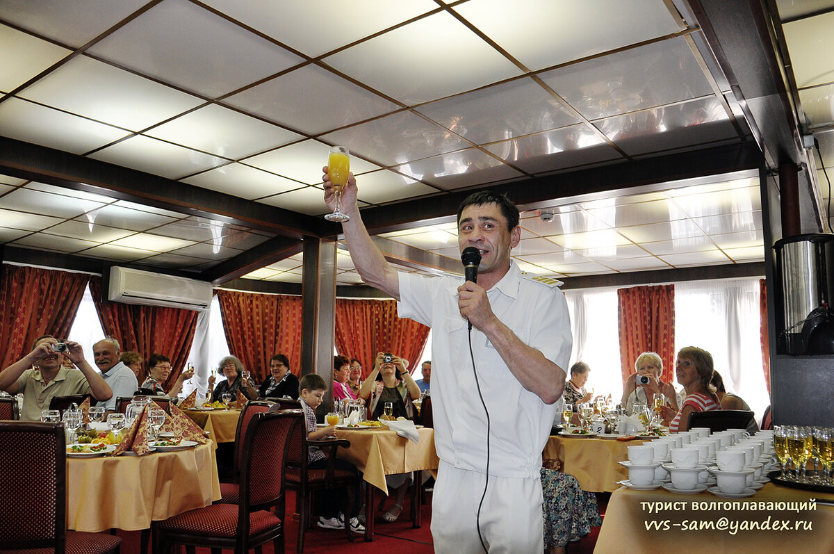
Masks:
[[[430,0],[316,0],[314,9],[295,0],[205,3],[313,58],[437,9]]]

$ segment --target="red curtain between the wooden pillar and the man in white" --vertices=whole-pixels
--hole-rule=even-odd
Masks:
[[[413,374],[429,340],[429,328],[397,316],[396,300],[336,300],[336,350],[362,362],[362,377],[374,369],[377,352],[409,360]]]

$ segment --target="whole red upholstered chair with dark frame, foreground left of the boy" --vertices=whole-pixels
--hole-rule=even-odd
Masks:
[[[246,430],[240,460],[240,503],[212,504],[153,522],[153,551],[170,545],[195,546],[243,554],[272,541],[284,552],[284,458],[290,430],[304,425],[304,415],[282,411],[254,414]],[[274,510],[274,513],[270,511]]]

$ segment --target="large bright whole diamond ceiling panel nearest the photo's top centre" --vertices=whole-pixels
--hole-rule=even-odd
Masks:
[[[415,48],[420,45],[420,48]],[[520,69],[449,13],[435,13],[324,58],[405,104],[495,83]]]

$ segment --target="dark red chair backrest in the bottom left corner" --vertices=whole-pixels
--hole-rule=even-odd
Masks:
[[[67,453],[63,424],[0,421],[0,545],[54,548],[67,526]]]

